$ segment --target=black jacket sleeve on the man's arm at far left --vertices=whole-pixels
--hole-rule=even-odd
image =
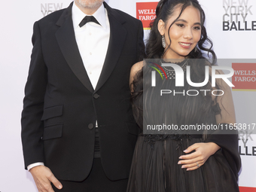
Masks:
[[[38,22],[35,22],[32,35],[32,55],[29,76],[25,87],[23,111],[21,117],[21,139],[25,169],[36,162],[44,162],[43,122],[44,94],[47,87],[47,67],[41,50],[41,34]]]

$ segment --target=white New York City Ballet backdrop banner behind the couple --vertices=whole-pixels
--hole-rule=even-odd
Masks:
[[[120,9],[142,20],[145,40],[149,23],[154,20],[158,1],[106,0],[112,8]],[[20,113],[23,90],[32,50],[32,25],[47,14],[68,7],[69,0],[4,1],[0,11],[0,191],[37,191],[32,176],[24,169],[20,141]],[[234,59],[232,66],[233,101],[237,123],[256,123],[256,1],[200,0],[206,12],[206,29],[214,43],[219,59]],[[254,127],[256,129],[256,127]],[[239,131],[239,153],[242,169],[240,191],[256,191],[256,136]]]

